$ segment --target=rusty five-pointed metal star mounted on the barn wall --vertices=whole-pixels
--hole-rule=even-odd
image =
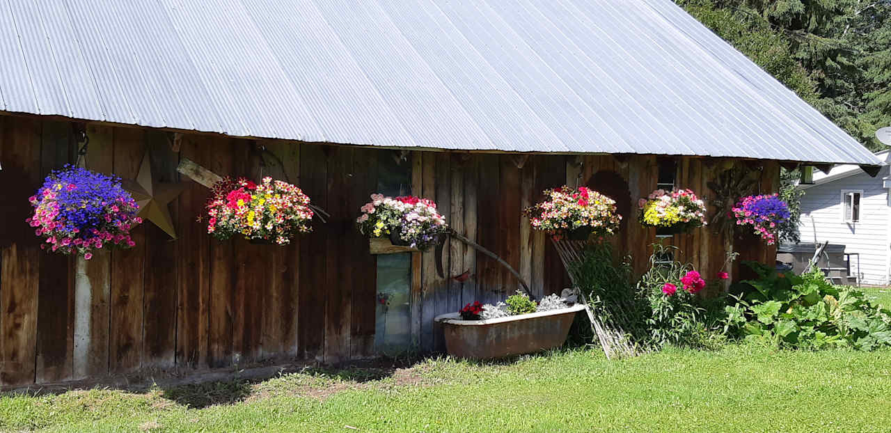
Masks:
[[[139,217],[157,225],[171,238],[176,239],[176,228],[173,218],[170,217],[168,204],[176,199],[188,186],[182,182],[176,184],[157,182],[151,175],[151,158],[146,149],[143,162],[139,166],[139,173],[135,179],[123,181],[124,189],[133,195],[133,200],[139,205]]]

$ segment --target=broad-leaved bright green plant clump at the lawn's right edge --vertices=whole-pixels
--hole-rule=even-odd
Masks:
[[[743,264],[759,278],[738,286],[736,303],[725,308],[725,332],[778,347],[891,346],[891,311],[872,305],[861,290],[834,286],[815,268],[799,276]]]

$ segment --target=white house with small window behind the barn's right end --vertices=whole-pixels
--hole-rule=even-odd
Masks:
[[[889,163],[891,151],[876,158]],[[889,167],[871,177],[860,167],[832,167],[829,174],[814,172],[813,184],[800,184],[802,242],[838,243],[852,257],[851,274],[865,284],[888,284],[891,274],[891,188]]]

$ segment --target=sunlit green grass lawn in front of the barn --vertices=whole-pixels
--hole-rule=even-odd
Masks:
[[[887,396],[889,350],[728,345],[621,361],[570,350],[502,364],[429,359],[383,374],[307,371],[253,383],[4,396],[0,429],[889,431]]]

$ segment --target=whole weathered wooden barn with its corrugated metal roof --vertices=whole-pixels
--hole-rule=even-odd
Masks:
[[[435,200],[542,296],[568,285],[520,214],[545,188],[617,200],[613,243],[640,273],[657,233],[635,203],[658,187],[714,198],[725,173],[774,192],[781,166],[877,168],[670,0],[359,3],[0,11],[0,385],[430,351],[434,316],[517,290],[454,240],[440,256],[370,254],[355,220],[374,192]],[[184,160],[298,184],[330,217],[286,247],[216,241]],[[78,161],[156,207],[134,248],[39,248],[29,196]],[[773,259],[708,227],[662,238],[704,274],[729,249]]]

